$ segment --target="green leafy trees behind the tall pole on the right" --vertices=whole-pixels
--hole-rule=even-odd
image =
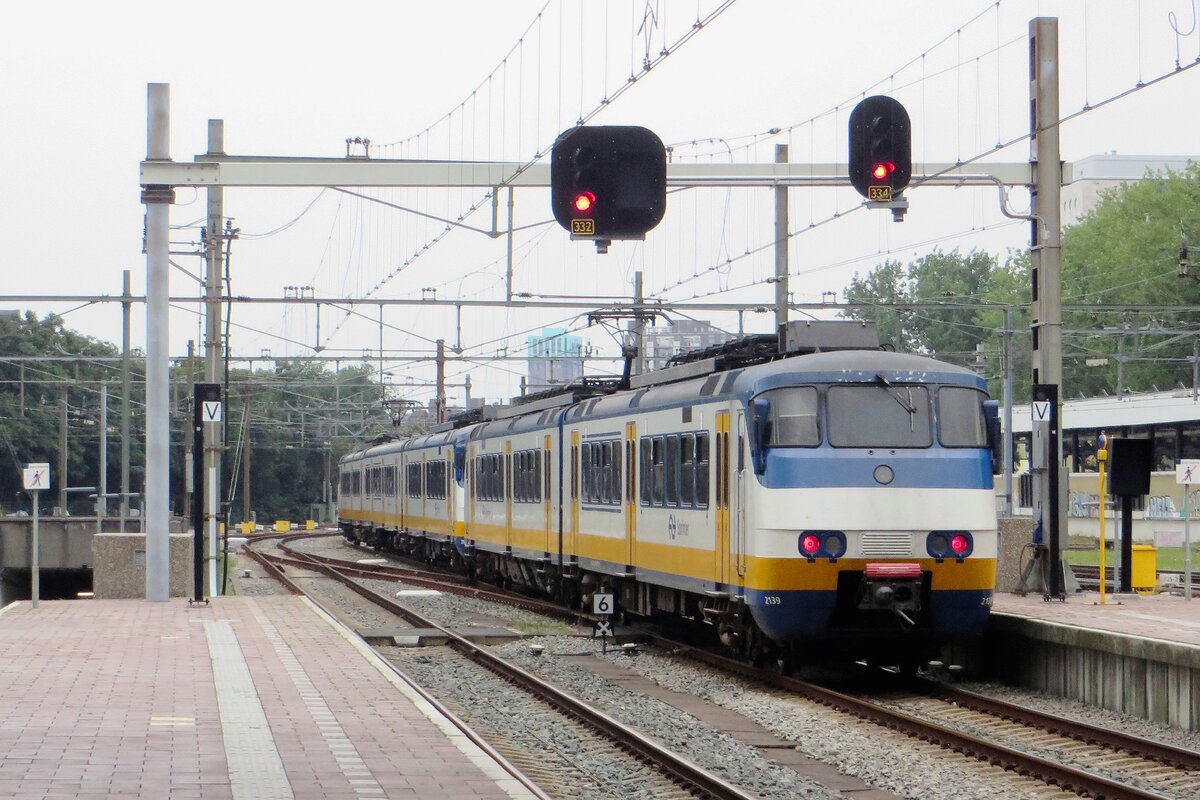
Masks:
[[[1192,384],[1193,347],[1200,336],[1200,282],[1178,276],[1181,236],[1190,242],[1190,273],[1200,277],[1200,166],[1148,175],[1103,194],[1062,243],[1064,306],[1122,306],[1118,311],[1063,312],[1063,397]],[[1028,402],[1031,384],[1028,251],[1003,264],[986,253],[934,251],[907,266],[887,260],[856,275],[847,312],[874,319],[883,342],[977,368],[984,344],[991,393],[1003,375],[1004,309],[1013,315],[1014,399]],[[920,303],[922,307],[906,307]],[[926,305],[930,303],[930,305]],[[970,307],[970,305],[984,307]],[[1102,366],[1087,361],[1104,360]],[[1118,367],[1120,363],[1120,367]]]

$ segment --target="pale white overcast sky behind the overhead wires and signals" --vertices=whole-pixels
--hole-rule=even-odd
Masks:
[[[170,84],[176,161],[206,149],[210,118],[224,120],[226,150],[239,155],[341,156],[347,137],[398,143],[442,120],[427,136],[374,155],[524,161],[574,125],[581,109],[624,84],[631,68],[641,68],[647,43],[637,26],[648,11],[656,19],[649,56],[658,58],[664,43],[690,29],[697,8],[704,16],[718,5],[367,0],[299,11],[294,4],[217,0],[6,7],[0,26],[2,294],[119,294],[124,269],[132,271],[133,291],[144,290],[137,167],[145,154],[146,83]],[[1172,12],[1190,35],[1175,36]],[[674,145],[679,160],[764,162],[784,143],[793,161],[833,162],[845,161],[846,118],[856,98],[894,91],[913,120],[916,161],[970,158],[1027,130],[1025,34],[1036,16],[1060,18],[1064,115],[1170,72],[1177,43],[1184,66],[1200,48],[1189,0],[1093,0],[1086,12],[1084,2],[1020,0],[737,0],[593,121],[644,125]],[[1063,158],[1105,151],[1198,154],[1198,97],[1200,68],[1086,114],[1064,125]],[[775,127],[785,133],[746,138]],[[700,144],[688,144],[692,140]],[[1025,142],[992,156],[1027,158]],[[336,192],[313,203],[318,192],[226,191],[226,213],[247,234],[275,230],[312,204],[286,230],[235,242],[234,294],[281,296],[284,285],[311,284],[318,296],[359,296],[383,282],[373,296],[420,297],[422,288],[433,287],[439,299],[503,299],[503,239],[457,230],[397,271],[440,225]],[[377,194],[457,216],[480,193]],[[1014,205],[1025,203],[1022,194],[1014,193]],[[902,224],[884,212],[854,211],[859,198],[848,188],[793,190],[791,197],[792,230],[814,224],[791,243],[797,301],[840,293],[856,271],[866,272],[887,257],[912,260],[935,243],[997,253],[1027,243],[1027,225],[1003,224],[995,190],[912,191]],[[203,193],[180,190],[176,200],[173,224],[203,217]],[[550,218],[547,192],[518,191],[516,204],[518,225]],[[649,295],[769,306],[774,289],[763,278],[773,272],[770,248],[745,253],[772,241],[772,209],[768,190],[676,193],[666,221],[644,245],[617,243],[607,255],[569,242],[557,225],[533,228],[516,239],[514,288],[629,296],[632,272],[642,270]],[[490,212],[468,222],[486,228]],[[173,240],[197,235],[185,228]],[[710,269],[726,259],[733,260]],[[199,259],[175,260],[192,272],[202,270]],[[668,287],[674,288],[662,293]],[[194,282],[173,271],[173,295],[197,291]],[[71,311],[78,303],[0,301],[0,307],[17,306],[38,314],[70,311],[70,326],[114,342],[120,337],[118,305]],[[187,339],[202,341],[196,308],[173,309],[173,354],[182,354]],[[377,307],[362,311],[378,314]],[[508,336],[509,350],[518,351],[526,332],[540,325],[582,329],[583,319],[574,317],[467,312],[462,345],[470,355],[487,356]],[[360,355],[378,348],[378,327],[355,318],[329,338],[340,319],[334,309],[322,313],[319,341],[326,353]],[[263,349],[302,355],[318,343],[311,309],[235,307],[234,321],[254,329],[235,326],[233,351],[239,355]],[[385,321],[392,327],[385,330],[384,348],[392,354],[428,355],[426,339],[456,341],[452,312],[392,308]],[[737,325],[732,314],[713,321]],[[748,330],[769,326],[768,314],[746,314]],[[140,311],[133,330],[140,345]],[[582,336],[598,351],[616,351],[602,329]],[[456,363],[449,369],[451,384],[468,368],[475,396],[493,399],[516,393],[516,373],[523,372],[522,363],[510,362],[506,371]],[[391,371],[400,396],[425,402],[432,395],[432,389],[404,387],[409,379],[431,380],[432,367],[396,363]],[[460,402],[461,390],[450,396]]]

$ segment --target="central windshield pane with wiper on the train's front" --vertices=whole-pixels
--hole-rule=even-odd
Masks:
[[[829,444],[834,447],[929,447],[934,444],[926,386],[874,384],[829,387]]]

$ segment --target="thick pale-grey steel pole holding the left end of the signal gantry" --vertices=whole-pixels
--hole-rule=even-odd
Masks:
[[[170,85],[146,86],[148,125],[146,160],[169,161]],[[170,482],[169,445],[170,380],[169,317],[170,305],[170,203],[169,186],[146,186],[142,201],[146,206],[146,600],[170,599]]]

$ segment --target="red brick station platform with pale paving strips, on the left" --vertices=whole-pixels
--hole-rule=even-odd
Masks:
[[[0,798],[538,796],[295,596],[0,609]]]

